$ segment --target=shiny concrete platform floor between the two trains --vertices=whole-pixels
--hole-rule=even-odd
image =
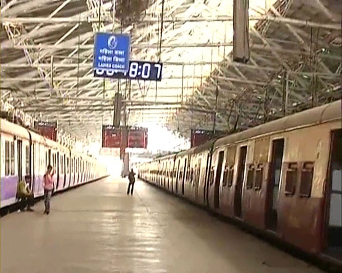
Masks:
[[[106,178],[0,219],[1,273],[318,273],[137,181]]]

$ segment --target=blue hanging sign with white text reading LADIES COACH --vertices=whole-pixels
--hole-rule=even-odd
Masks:
[[[95,34],[93,68],[127,72],[129,53],[129,35],[98,32]]]

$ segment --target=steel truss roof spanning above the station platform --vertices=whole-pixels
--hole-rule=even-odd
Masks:
[[[161,124],[185,137],[341,98],[340,1],[249,0],[248,63],[232,61],[233,0],[132,0],[143,8],[129,20],[113,14],[113,2],[1,0],[1,99],[99,140],[117,91],[128,124]],[[160,60],[163,80],[94,78],[98,31],[130,33],[131,59]]]

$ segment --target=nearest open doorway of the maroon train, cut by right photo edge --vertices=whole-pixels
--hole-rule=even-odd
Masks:
[[[342,251],[342,129],[332,131],[326,189],[326,246],[331,254]]]

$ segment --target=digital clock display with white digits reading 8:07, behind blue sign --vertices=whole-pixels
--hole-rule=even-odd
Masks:
[[[162,80],[162,63],[150,61],[129,61],[128,72],[113,69],[94,69],[94,76],[101,78],[128,78],[143,80]]]

